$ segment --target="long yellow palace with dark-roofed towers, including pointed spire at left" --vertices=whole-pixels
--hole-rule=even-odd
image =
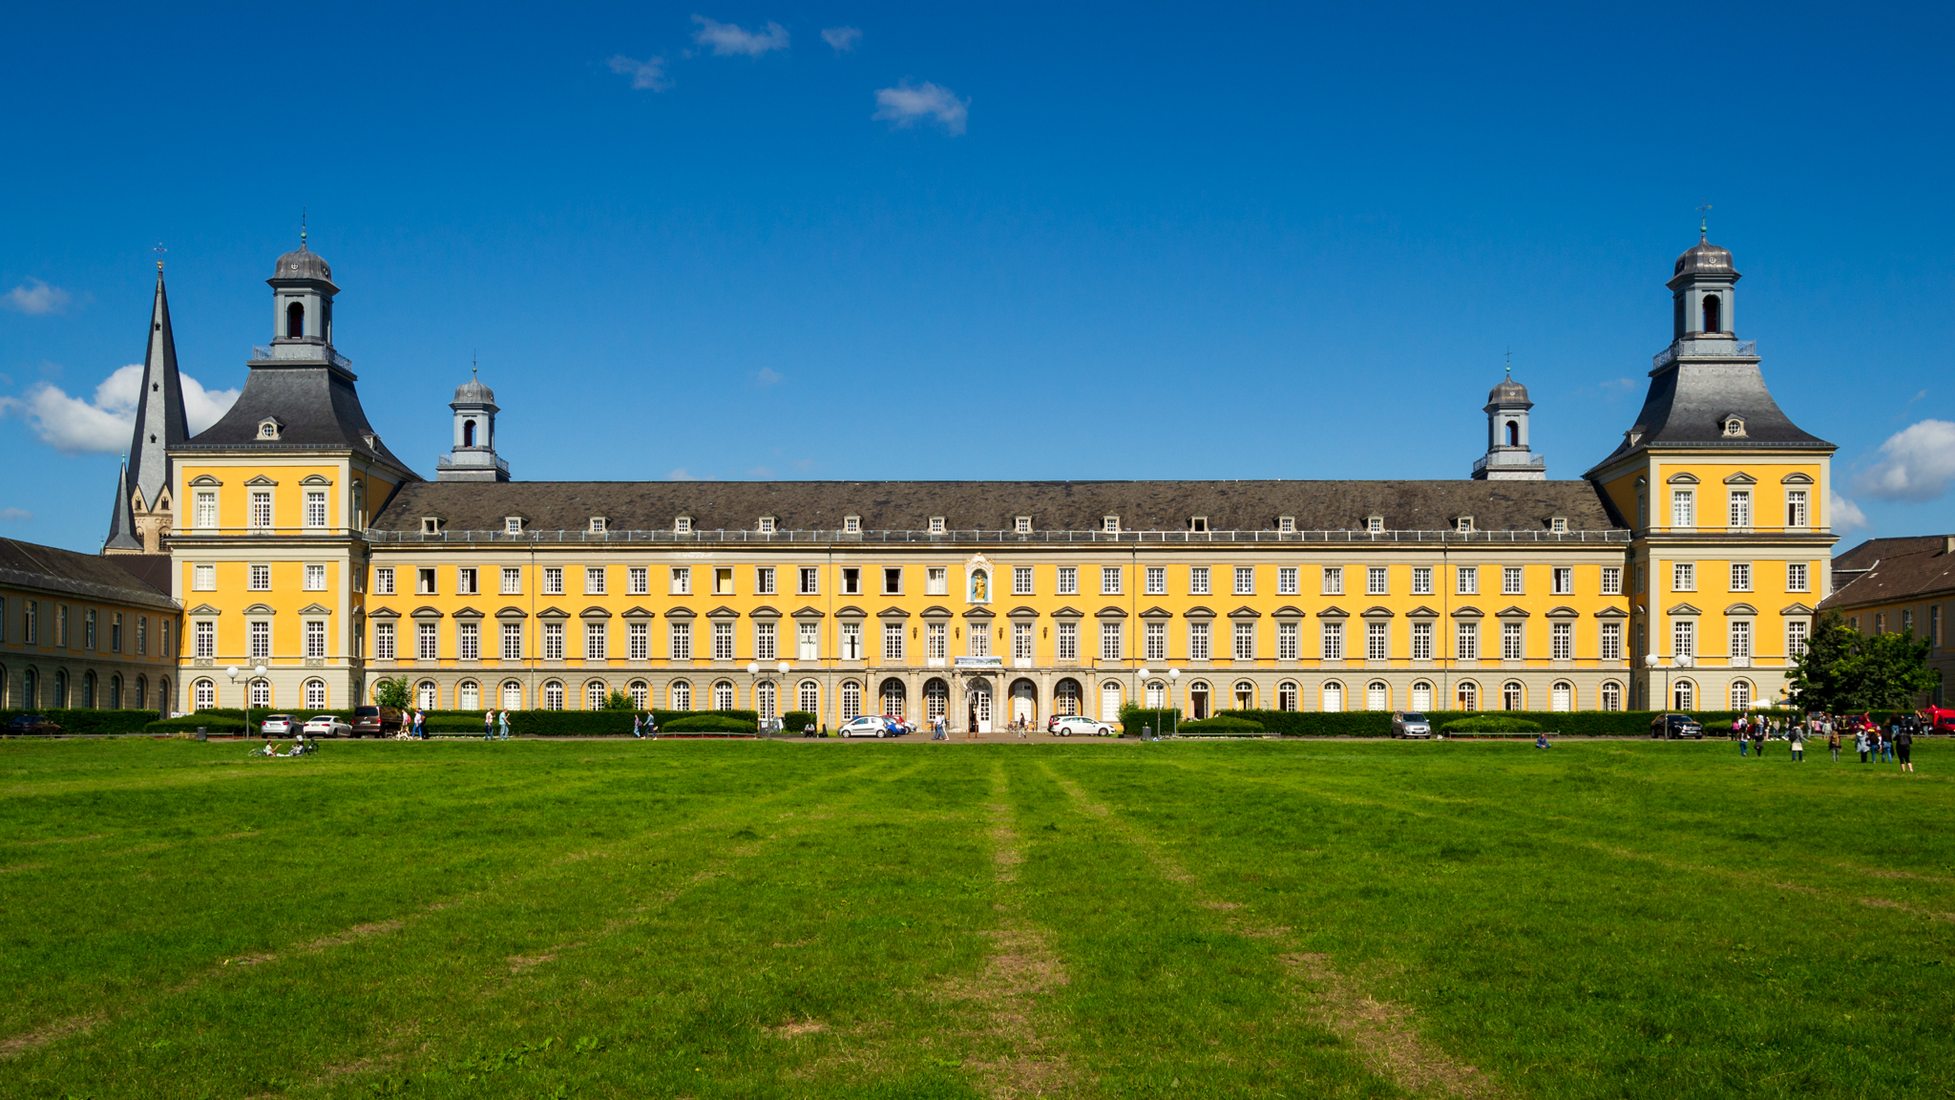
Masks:
[[[475,379],[426,481],[368,422],[301,240],[197,436],[158,270],[106,549],[170,557],[182,711],[348,707],[383,676],[440,709],[622,692],[952,729],[1128,701],[1746,707],[1783,698],[1826,592],[1834,447],[1767,393],[1736,281],[1709,242],[1677,258],[1648,399],[1578,481],[1546,477],[1511,377],[1456,481],[512,481]]]

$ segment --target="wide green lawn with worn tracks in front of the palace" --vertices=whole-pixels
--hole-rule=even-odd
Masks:
[[[1949,1096],[1955,752],[0,742],[0,1096]]]

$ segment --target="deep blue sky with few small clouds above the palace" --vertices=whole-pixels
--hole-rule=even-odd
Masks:
[[[1844,545],[1955,529],[1945,8],[53,8],[8,535],[104,537],[152,244],[215,410],[301,209],[428,477],[475,356],[520,479],[1382,479],[1466,475],[1509,350],[1550,475],[1609,453],[1705,201]]]

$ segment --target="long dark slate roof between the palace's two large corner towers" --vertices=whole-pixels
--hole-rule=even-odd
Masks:
[[[1476,531],[1550,529],[1568,522],[1576,539],[1627,528],[1586,481],[510,481],[403,485],[373,520],[375,531],[418,535],[422,518],[442,528],[502,531],[520,516],[526,531],[585,531],[602,516],[610,531],[671,531],[678,516],[696,531],[753,531],[772,516],[780,531],[841,531],[858,516],[864,531],[927,531],[933,516],[950,531],[1013,531],[1019,516],[1034,531],[1101,531],[1107,516],[1122,531],[1275,531],[1290,516],[1298,531],[1363,531],[1382,516],[1392,531],[1445,531],[1472,516]]]

